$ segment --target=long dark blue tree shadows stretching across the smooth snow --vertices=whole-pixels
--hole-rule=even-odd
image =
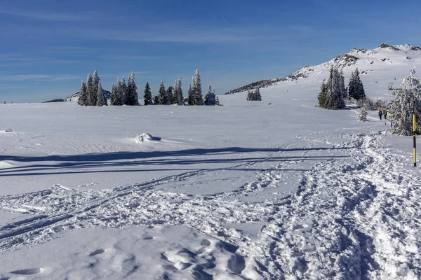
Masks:
[[[296,151],[323,151],[344,150],[348,148],[214,148],[214,149],[187,149],[181,151],[152,151],[152,152],[115,152],[115,153],[89,153],[83,155],[47,155],[39,157],[22,157],[13,155],[1,155],[1,160],[13,160],[15,162],[40,162],[39,164],[24,165],[21,167],[7,167],[0,169],[0,176],[25,176],[46,174],[74,174],[74,173],[100,173],[100,172],[151,172],[169,170],[198,170],[201,168],[180,168],[185,165],[203,164],[237,164],[247,165],[256,162],[282,162],[294,160],[320,161],[334,160],[346,156],[276,156],[276,157],[251,157],[250,153],[283,153]],[[218,157],[220,155],[233,155],[235,157]],[[200,158],[189,158],[189,157]],[[203,158],[203,156],[205,158]],[[210,158],[214,157],[214,158]],[[41,162],[54,162],[52,164]],[[137,166],[147,167],[135,169]],[[176,166],[176,168],[150,169],[149,167]],[[92,170],[104,167],[106,170]],[[119,167],[119,169],[112,169]],[[131,169],[121,169],[131,167]],[[230,169],[232,167],[229,167]],[[65,169],[62,170],[62,169]],[[67,170],[66,170],[67,169]],[[71,169],[71,170],[70,170]],[[83,170],[88,169],[88,170]],[[223,169],[223,167],[221,168]],[[252,170],[252,169],[247,169]],[[261,169],[258,169],[261,170]],[[51,172],[48,172],[51,171]],[[54,172],[53,172],[54,171]]]

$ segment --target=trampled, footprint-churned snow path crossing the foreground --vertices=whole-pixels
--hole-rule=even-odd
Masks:
[[[255,182],[212,195],[178,193],[178,188],[185,181],[197,183],[229,169],[256,169],[271,158],[112,190],[57,184],[40,192],[2,196],[1,210],[32,218],[1,225],[0,250],[6,253],[80,228],[185,225],[209,239],[203,239],[203,248],[196,252],[163,252],[163,260],[175,267],[166,272],[166,279],[177,279],[181,271],[191,279],[420,279],[420,178],[407,168],[406,158],[384,148],[385,134],[298,136],[295,141],[307,143],[299,153],[256,171]],[[321,148],[326,144],[332,148]],[[304,158],[315,165],[307,170]],[[283,184],[288,172],[300,176],[297,193],[263,195]],[[265,199],[256,199],[260,196]],[[261,225],[260,234],[233,226],[239,224]],[[98,250],[91,255],[104,252]],[[203,265],[203,260],[215,259],[217,251],[228,255],[229,274],[219,278],[213,277],[220,275],[221,267],[213,265],[217,260]],[[135,273],[133,267],[128,275]]]

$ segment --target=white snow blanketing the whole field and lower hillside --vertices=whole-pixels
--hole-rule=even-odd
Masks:
[[[421,62],[352,55],[385,99]],[[313,68],[262,102],[0,104],[0,279],[420,279],[412,138],[314,106]]]

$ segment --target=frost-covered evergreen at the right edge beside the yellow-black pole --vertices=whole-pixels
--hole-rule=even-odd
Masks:
[[[413,113],[417,127],[421,125],[421,83],[415,74],[415,67],[410,76],[403,79],[402,88],[396,90],[396,96],[389,109],[393,132],[399,135],[413,134]]]

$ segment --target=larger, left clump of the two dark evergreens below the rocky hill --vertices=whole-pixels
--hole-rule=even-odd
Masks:
[[[339,71],[336,67],[330,68],[328,81],[321,84],[319,94],[319,106],[338,110],[345,107],[344,99],[347,96],[347,90],[345,89],[345,78],[342,71]]]

